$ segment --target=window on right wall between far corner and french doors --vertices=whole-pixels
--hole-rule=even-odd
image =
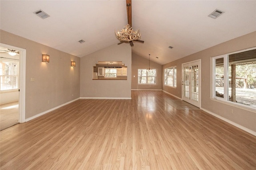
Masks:
[[[164,85],[176,87],[176,84],[177,84],[176,72],[177,72],[176,66],[164,69]]]

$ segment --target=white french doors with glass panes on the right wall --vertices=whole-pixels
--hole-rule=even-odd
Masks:
[[[201,107],[200,63],[192,61],[182,64],[182,100]]]

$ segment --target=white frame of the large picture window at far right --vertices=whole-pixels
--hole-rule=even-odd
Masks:
[[[256,49],[256,47],[252,47],[249,49],[244,49],[244,50],[240,50],[240,51],[235,51],[232,53],[228,53],[228,54],[224,54],[224,55],[220,55],[220,56],[216,56],[216,57],[211,57],[211,100],[214,100],[216,102],[220,102],[220,103],[224,103],[230,106],[234,106],[234,107],[238,107],[238,108],[242,108],[248,111],[252,111],[254,113],[256,113],[255,111],[255,107],[251,107],[251,106],[246,106],[244,104],[240,104],[240,103],[236,103],[236,102],[232,102],[228,100],[228,55],[232,55],[235,53],[241,53],[244,51],[249,51],[249,50],[253,50]],[[224,98],[218,97],[216,96],[216,92],[215,92],[215,59],[219,59],[219,58],[224,58]]]

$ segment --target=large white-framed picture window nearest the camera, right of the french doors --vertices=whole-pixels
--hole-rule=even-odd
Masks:
[[[213,57],[212,64],[212,96],[255,108],[256,49]]]

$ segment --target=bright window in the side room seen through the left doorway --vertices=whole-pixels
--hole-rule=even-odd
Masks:
[[[18,89],[18,63],[0,61],[0,90]]]

